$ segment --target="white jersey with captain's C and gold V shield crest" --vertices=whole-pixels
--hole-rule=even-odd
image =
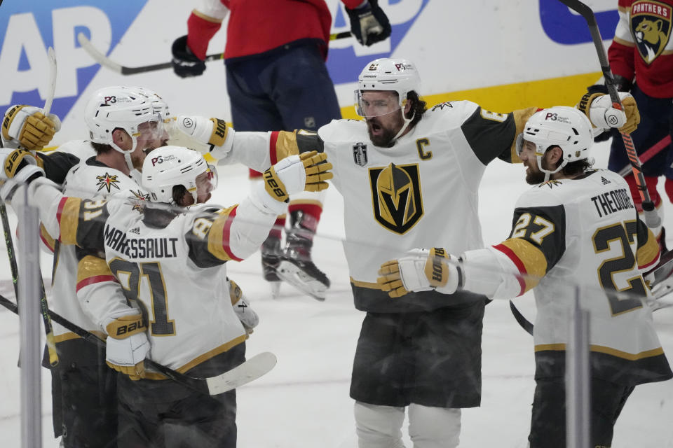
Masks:
[[[391,148],[374,146],[365,122],[334,120],[318,130],[344,197],[344,250],[355,307],[403,312],[481,300],[458,292],[447,300],[435,291],[390,300],[376,283],[383,262],[416,247],[451,253],[483,247],[478,189],[494,158],[518,161],[517,125],[536,109],[508,115],[473,102],[438,104]],[[518,122],[518,123],[517,123]]]

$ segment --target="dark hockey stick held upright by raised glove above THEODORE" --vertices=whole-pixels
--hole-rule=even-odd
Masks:
[[[615,80],[612,76],[612,71],[610,70],[610,63],[608,62],[608,57],[605,54],[605,48],[603,48],[603,39],[601,38],[601,32],[598,29],[594,12],[591,10],[591,8],[589,8],[589,6],[586,6],[579,0],[559,1],[581,15],[587,22],[589,32],[591,33],[591,37],[594,41],[594,46],[596,47],[596,53],[601,65],[601,71],[603,71],[605,86],[607,87],[608,93],[610,94],[610,99],[612,100],[612,106],[615,109],[623,111],[624,107],[622,106],[622,102],[619,99],[617,87],[615,87]],[[640,191],[645,223],[647,224],[648,228],[658,228],[661,225],[661,218],[659,218],[659,215],[655,211],[654,202],[652,202],[650,193],[647,190],[645,178],[642,173],[641,163],[638,159],[636,148],[633,145],[633,140],[631,139],[631,136],[625,132],[621,132],[620,134],[622,134],[622,140],[624,141],[626,153],[629,156],[629,160],[631,162],[631,169],[636,179],[636,185]]]

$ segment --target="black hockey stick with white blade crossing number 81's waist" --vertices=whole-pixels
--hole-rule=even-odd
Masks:
[[[12,311],[14,314],[19,314],[16,304],[2,295],[0,295],[0,305]],[[96,344],[97,346],[105,347],[105,341],[92,332],[88,332],[79,325],[67,320],[67,318],[56,314],[54,311],[49,311],[49,314],[54,322],[63,325],[64,328],[74,332],[82,339],[85,339],[92,344]],[[252,358],[246,360],[243,364],[240,364],[223,374],[219,374],[217,377],[210,378],[188,377],[176,370],[172,370],[170,367],[156,363],[151,359],[145,359],[144,363],[157,372],[164,374],[166,377],[193,391],[205,395],[218,395],[219,393],[231,391],[231,389],[243,386],[243,384],[247,384],[271,371],[276,365],[276,355],[270,351],[263,351],[252,356]]]

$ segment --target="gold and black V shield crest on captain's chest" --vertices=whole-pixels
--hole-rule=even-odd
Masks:
[[[419,165],[369,169],[374,218],[386,229],[403,235],[423,216]]]

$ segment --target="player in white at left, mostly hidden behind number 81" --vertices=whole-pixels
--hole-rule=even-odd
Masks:
[[[31,108],[21,110],[26,109]],[[168,134],[163,131],[163,120],[168,116],[168,105],[155,92],[142,87],[104,87],[94,92],[85,106],[89,140],[68,141],[57,152],[38,153],[34,158],[25,151],[18,152],[15,167],[21,160],[34,162],[45,169],[48,179],[62,183],[66,195],[107,197],[127,190],[140,194],[137,168],[142,167],[149,151],[165,144]],[[12,109],[7,117],[13,118],[15,127],[22,121],[13,117]],[[24,134],[35,136],[43,128],[30,123],[36,118],[40,117],[24,120],[24,127],[32,130]],[[27,143],[22,147],[34,147]],[[131,179],[132,172],[137,181]],[[95,283],[107,286],[111,295],[121,294],[118,283],[111,281],[109,269],[97,253],[62,246],[57,235],[53,238],[47,232],[41,232],[41,237],[54,252],[50,309],[81,328],[97,332],[97,325],[80,306],[77,291],[82,290],[83,300],[89,300],[86,286]],[[65,448],[116,446],[114,371],[105,367],[104,353],[97,346],[57,323],[53,328],[61,360],[51,370],[55,436],[63,436]]]

